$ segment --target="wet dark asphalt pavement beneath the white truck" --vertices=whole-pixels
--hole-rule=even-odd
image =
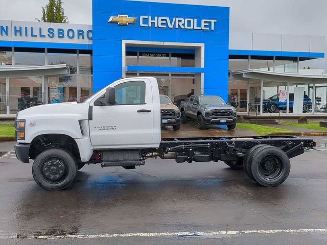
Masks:
[[[318,151],[291,159],[274,188],[223,162],[151,159],[132,170],[86,165],[65,191],[41,189],[32,164],[0,143],[9,151],[0,158],[0,244],[326,244],[326,231],[299,230],[327,229],[327,137],[315,139]]]

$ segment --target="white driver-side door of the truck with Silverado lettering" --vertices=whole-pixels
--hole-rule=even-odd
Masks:
[[[153,144],[155,108],[150,80],[125,80],[114,84],[114,88],[115,105],[96,106],[96,100],[90,104],[92,145],[105,149]]]

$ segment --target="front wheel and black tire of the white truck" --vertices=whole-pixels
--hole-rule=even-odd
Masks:
[[[46,190],[71,186],[77,173],[73,156],[62,149],[49,149],[38,155],[32,166],[35,182]]]

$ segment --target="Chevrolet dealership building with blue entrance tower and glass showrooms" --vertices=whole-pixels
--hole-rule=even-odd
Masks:
[[[327,113],[327,75],[299,64],[323,58],[325,38],[229,32],[229,11],[94,0],[89,25],[0,20],[0,116],[136,76],[155,77],[172,101],[194,92],[240,113]]]

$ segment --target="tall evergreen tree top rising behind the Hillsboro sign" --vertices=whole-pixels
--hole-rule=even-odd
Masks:
[[[69,21],[67,16],[65,16],[62,5],[62,0],[49,0],[49,4],[42,7],[41,19],[36,18],[36,20],[42,22],[68,23]]]

